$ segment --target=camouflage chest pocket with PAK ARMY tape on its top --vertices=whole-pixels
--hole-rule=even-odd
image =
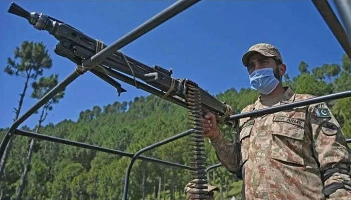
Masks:
[[[302,144],[304,132],[303,120],[274,116],[271,158],[303,165]]]

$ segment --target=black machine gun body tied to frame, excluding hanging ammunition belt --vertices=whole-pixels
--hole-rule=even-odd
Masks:
[[[12,2],[8,12],[28,19],[29,23],[38,30],[47,30],[59,40],[59,43],[54,49],[56,54],[76,63],[80,72],[90,70],[113,85],[116,87],[118,95],[126,92],[126,90],[112,77],[189,108],[189,104],[187,103],[189,95],[187,96],[187,93],[189,85],[194,85],[200,93],[201,106],[203,107],[202,114],[211,111],[217,115],[218,122],[224,122],[221,119],[233,114],[230,105],[219,101],[199,87],[194,81],[186,78],[174,78],[171,76],[172,69],[165,69],[157,65],[152,67],[147,66],[120,51],[113,52],[107,56],[106,59],[98,64],[98,67],[84,68],[82,67],[82,62],[105,48],[106,44],[98,39],[93,39],[77,28],[52,16],[37,12],[30,13],[14,2]],[[129,74],[132,77],[118,71]],[[145,81],[146,84],[136,78]],[[231,125],[233,125],[232,122]]]

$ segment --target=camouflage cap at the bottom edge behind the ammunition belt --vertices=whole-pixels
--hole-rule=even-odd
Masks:
[[[196,181],[197,179],[192,180],[193,182]],[[192,183],[192,181],[188,182],[188,184],[184,187],[184,192],[187,195],[187,199],[198,199],[196,196],[196,193],[203,193],[205,192],[206,194],[206,200],[215,200],[214,197],[214,192],[213,191],[218,191],[219,188],[210,184],[205,184],[207,185],[207,189],[198,189],[195,188],[195,184]],[[193,194],[192,194],[193,193]]]

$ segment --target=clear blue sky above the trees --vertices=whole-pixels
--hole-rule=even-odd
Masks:
[[[120,38],[174,0],[16,0],[30,12],[44,12],[62,20],[106,44]],[[332,3],[332,1],[330,1]],[[39,31],[22,17],[7,12],[11,1],[0,1],[0,127],[13,123],[24,79],[3,72],[7,57],[24,40],[43,41],[53,58],[45,75],[59,73],[62,80],[74,69],[73,62],[54,53],[58,41],[47,31]],[[332,5],[333,6],[333,5]],[[333,6],[334,7],[334,6]],[[269,42],[277,46],[290,77],[298,74],[301,60],[310,67],[340,63],[344,51],[310,0],[203,0],[169,19],[121,49],[149,66],[173,68],[173,76],[190,78],[211,94],[231,87],[249,87],[248,74],[241,63],[250,45]],[[116,90],[92,73],[78,77],[66,88],[65,97],[54,105],[44,124],[65,118],[77,120],[79,112],[94,105],[129,101],[148,95],[119,81],[128,91]],[[37,100],[29,88],[21,114]],[[22,125],[34,127],[39,118],[32,115]],[[21,125],[21,126],[22,126]]]

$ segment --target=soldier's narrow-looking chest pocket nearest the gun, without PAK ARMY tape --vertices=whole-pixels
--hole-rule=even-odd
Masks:
[[[241,145],[241,160],[240,166],[242,166],[247,159],[249,159],[249,147],[250,147],[250,135],[253,126],[253,120],[247,121],[241,128],[239,140]]]

